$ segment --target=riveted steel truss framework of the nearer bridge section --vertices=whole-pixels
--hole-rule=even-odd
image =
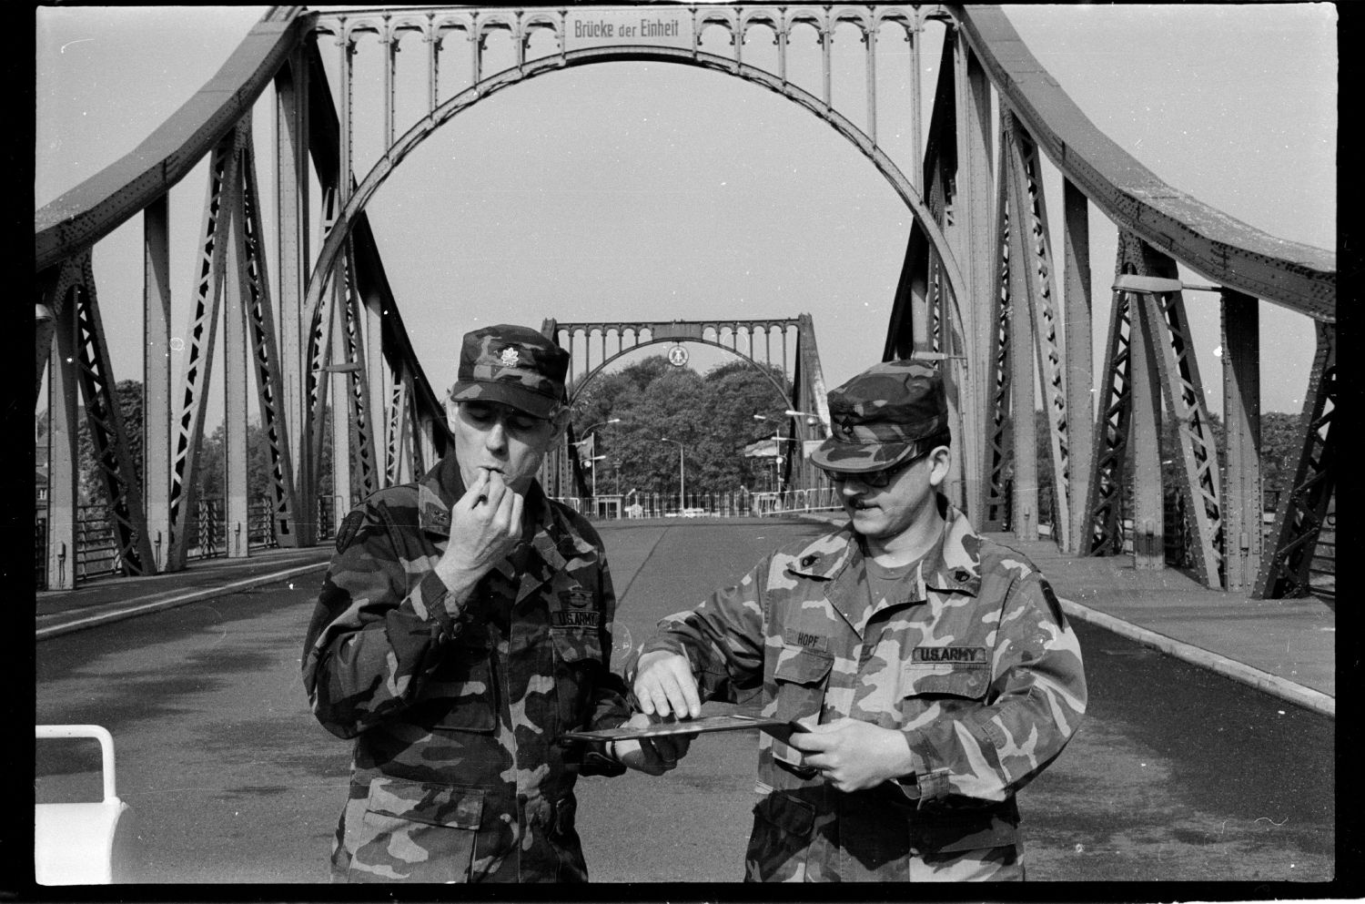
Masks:
[[[913,223],[883,356],[935,361],[943,369],[958,456],[951,490],[979,523],[1022,538],[1037,533],[1036,426],[1020,414],[1033,411],[1040,386],[1043,466],[1054,488],[1051,520],[1066,552],[1115,553],[1123,549],[1125,534],[1136,531],[1138,563],[1160,565],[1171,527],[1162,493],[1164,416],[1177,427],[1178,449],[1170,451],[1179,459],[1174,489],[1190,524],[1194,571],[1211,586],[1257,595],[1306,587],[1308,563],[1335,488],[1331,253],[1268,236],[1166,186],[1089,123],[995,7],[676,7],[670,15],[681,16],[681,37],[672,44],[571,41],[571,16],[610,10],[408,7],[318,14],[273,7],[203,90],[142,146],[37,212],[35,385],[49,374],[53,586],[61,574],[59,550],[75,546],[81,401],[101,492],[117,522],[121,568],[138,574],[183,565],[220,320],[227,351],[229,523],[246,519],[247,373],[258,388],[255,401],[269,437],[272,516],[283,542],[318,539],[325,445],[332,447],[332,481],[343,509],[442,455],[450,442],[442,403],[414,355],[366,217],[367,202],[427,135],[498,90],[571,66],[663,60],[728,72],[786,97],[845,137],[904,199]],[[912,154],[902,171],[878,137],[876,48],[893,37],[908,41],[917,79],[931,29],[942,37],[938,83],[927,128],[919,104],[913,105]],[[728,36],[729,49],[717,51],[704,40],[708,33]],[[857,111],[833,102],[831,48],[850,34],[867,63],[867,102]],[[745,51],[755,36],[771,36],[777,46],[771,66],[756,64],[759,57]],[[819,48],[819,76],[803,87],[789,63],[799,38],[809,36]],[[374,37],[384,57],[377,123],[362,120],[352,104],[362,37]],[[489,64],[487,49],[497,41],[511,48],[511,61],[501,68]],[[394,67],[404,42],[420,44],[423,52],[415,59],[427,74],[425,111],[411,123],[399,122],[396,104]],[[461,46],[467,78],[442,96],[442,72],[449,78],[450,53]],[[330,68],[334,79],[325,51],[340,56]],[[250,123],[254,104],[270,89],[276,221],[262,223]],[[919,90],[915,81],[913,91]],[[382,135],[369,169],[356,165],[360,128]],[[1044,158],[1063,178],[1061,262],[1039,175]],[[167,195],[201,160],[212,161],[194,239],[201,254],[191,291],[175,302],[192,310],[195,326],[172,393],[171,355],[164,354],[175,298]],[[310,198],[310,184],[321,197]],[[1111,220],[1121,236],[1099,370],[1088,341],[1092,210]],[[90,269],[91,249],[139,214],[147,348],[141,481],[102,347]],[[322,231],[315,253],[311,224]],[[268,229],[276,239],[273,266],[263,253]],[[1177,266],[1212,281],[1219,294],[1227,422],[1222,441],[1204,404],[1186,318],[1189,287],[1177,279]],[[1282,496],[1267,554],[1259,530],[1257,300],[1312,318],[1319,332],[1294,486]]]

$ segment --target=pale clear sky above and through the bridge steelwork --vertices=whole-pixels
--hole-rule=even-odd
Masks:
[[[135,147],[265,10],[38,10],[35,208]],[[1080,108],[1167,183],[1271,235],[1335,249],[1330,4],[1009,5],[1006,14]],[[835,40],[834,100],[861,123],[861,82],[841,75],[860,71],[849,46]],[[938,68],[931,46],[921,60],[925,93]],[[895,93],[909,67],[904,48],[878,46],[878,116],[879,137],[909,172],[908,94]],[[745,59],[760,61],[763,52],[752,48],[751,56],[747,46]],[[506,59],[506,48],[491,41],[489,55]],[[374,109],[375,59],[371,38],[358,55],[358,111]],[[794,81],[809,85],[815,52],[797,49],[792,59]],[[400,53],[400,120],[418,112],[410,98],[425,97],[420,66],[403,68],[410,60],[420,56]],[[378,153],[377,128],[358,134],[358,178]],[[257,104],[254,134],[269,234],[269,96]],[[182,239],[172,247],[172,332],[182,336],[205,184],[201,165],[171,198],[172,234]],[[1061,183],[1048,164],[1044,186],[1059,255]],[[887,180],[808,111],[756,85],[665,63],[576,67],[475,104],[412,152],[369,214],[408,333],[438,388],[453,380],[460,336],[493,322],[800,313],[814,317],[833,388],[880,359],[910,227]],[[1099,367],[1115,229],[1095,208],[1091,234]],[[94,268],[113,371],[141,378],[139,218],[97,246]],[[1222,411],[1216,295],[1186,292],[1185,300],[1207,400]],[[1312,324],[1263,302],[1261,335],[1263,410],[1297,412]],[[692,352],[700,370],[729,359]],[[221,373],[218,365],[214,395]],[[217,418],[210,411],[210,423]]]

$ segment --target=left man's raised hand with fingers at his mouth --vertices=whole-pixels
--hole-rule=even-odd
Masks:
[[[479,477],[450,507],[450,542],[435,571],[452,590],[471,586],[521,542],[524,498],[500,471]]]

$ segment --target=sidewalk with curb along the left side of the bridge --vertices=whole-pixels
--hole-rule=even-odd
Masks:
[[[169,609],[224,593],[248,590],[318,572],[332,556],[332,543],[310,549],[263,549],[248,559],[199,559],[184,571],[146,578],[96,578],[75,590],[35,594],[37,639]]]

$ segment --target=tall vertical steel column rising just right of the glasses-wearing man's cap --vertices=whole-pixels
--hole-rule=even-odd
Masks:
[[[979,522],[986,507],[981,436],[986,427],[986,380],[990,363],[988,322],[980,299],[994,284],[991,255],[991,85],[986,71],[960,31],[953,33],[954,102],[957,131],[957,197],[953,201],[953,229],[949,243],[962,272],[966,298],[957,299],[966,322],[961,325],[966,362],[953,359],[956,382],[962,386],[962,478],[968,518]],[[1016,345],[1017,347],[1017,345]],[[950,350],[951,351],[951,350]]]

